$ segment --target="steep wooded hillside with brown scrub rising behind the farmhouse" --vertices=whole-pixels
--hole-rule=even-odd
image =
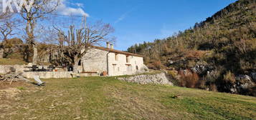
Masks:
[[[236,1],[191,29],[152,43],[136,44],[128,51],[143,54],[151,69],[207,68],[196,72],[201,83],[233,92],[230,89],[243,82],[237,76],[250,76],[250,83],[256,82],[256,1]],[[210,79],[207,72],[213,74]],[[252,84],[252,91],[255,88]]]

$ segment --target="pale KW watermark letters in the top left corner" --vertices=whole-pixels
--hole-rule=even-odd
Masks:
[[[10,12],[14,12],[14,8],[16,8],[16,11],[20,12],[22,8],[26,9],[26,11],[30,11],[32,8],[32,5],[34,4],[34,0],[0,0],[2,1],[2,9],[3,12],[6,13],[6,11],[9,9]]]

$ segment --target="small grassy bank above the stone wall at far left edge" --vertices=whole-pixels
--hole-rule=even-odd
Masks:
[[[24,65],[28,64],[21,59],[0,59],[0,65]]]

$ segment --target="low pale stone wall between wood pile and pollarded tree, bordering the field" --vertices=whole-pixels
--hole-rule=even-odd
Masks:
[[[29,71],[24,72],[23,76],[28,79],[33,79],[34,76],[39,76],[40,79],[64,79],[64,78],[72,78],[71,71]]]

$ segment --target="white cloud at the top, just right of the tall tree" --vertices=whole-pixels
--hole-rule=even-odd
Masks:
[[[75,7],[71,7],[73,5]],[[60,5],[58,6],[57,13],[68,16],[89,16],[83,9],[83,4],[81,3],[70,3],[68,0],[60,0]]]

